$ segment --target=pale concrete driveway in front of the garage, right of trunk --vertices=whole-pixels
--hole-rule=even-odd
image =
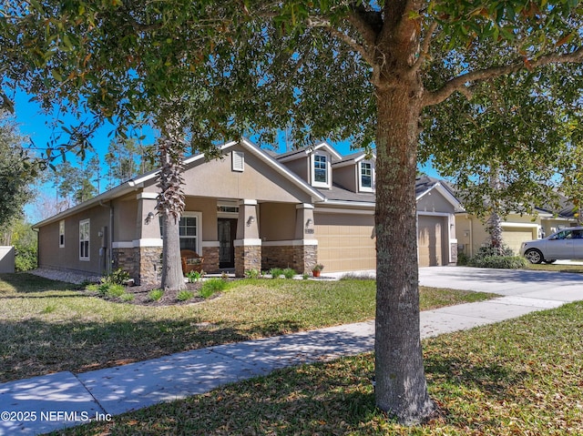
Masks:
[[[422,286],[493,292],[531,299],[583,299],[583,274],[527,269],[428,267],[419,269]]]

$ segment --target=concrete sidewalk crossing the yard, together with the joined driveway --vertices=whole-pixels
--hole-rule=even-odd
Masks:
[[[458,268],[424,270],[427,269],[420,272],[422,284],[440,286],[438,278],[447,276],[447,287],[455,288],[451,275],[458,274],[458,281],[463,282],[459,286],[468,286],[465,281],[469,280],[474,286],[466,289],[483,286],[505,296],[422,312],[423,338],[583,299],[583,277],[574,274],[558,280],[556,273],[547,276],[535,272],[533,277],[529,271],[512,276],[504,270],[489,270],[489,273]],[[481,280],[474,280],[476,275]],[[496,279],[504,275],[514,286]],[[486,284],[476,286],[483,282]],[[37,434],[88,421],[108,421],[125,411],[208,392],[225,383],[266,375],[288,366],[371,351],[373,346],[374,323],[368,321],[192,350],[105,370],[81,374],[59,372],[11,381],[0,384],[0,435]]]

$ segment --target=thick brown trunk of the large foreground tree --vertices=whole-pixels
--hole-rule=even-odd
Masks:
[[[411,35],[405,35],[402,44],[390,41],[385,46],[383,65],[393,69],[381,72],[375,90],[375,396],[381,410],[404,424],[424,421],[435,411],[427,392],[419,328],[414,184],[423,86],[411,68]],[[401,71],[394,68],[399,65]]]

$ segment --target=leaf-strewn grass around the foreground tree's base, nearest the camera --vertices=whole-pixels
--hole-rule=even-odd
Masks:
[[[373,354],[278,370],[63,435],[583,434],[583,303],[424,340],[441,408],[405,428],[374,407]]]

